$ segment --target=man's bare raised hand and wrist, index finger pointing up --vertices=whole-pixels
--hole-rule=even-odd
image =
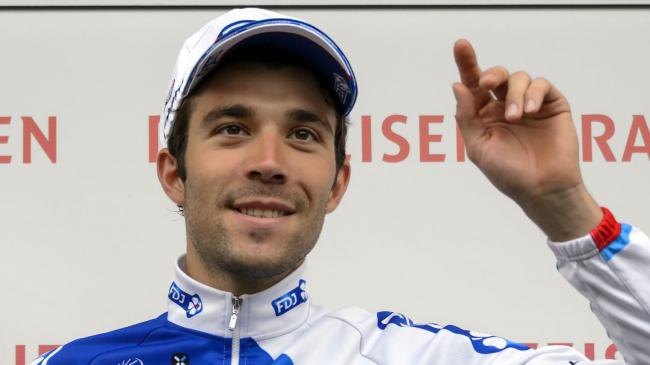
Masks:
[[[501,66],[482,71],[471,44],[454,56],[456,121],[467,156],[553,240],[588,233],[602,213],[587,192],[566,98],[547,80]]]

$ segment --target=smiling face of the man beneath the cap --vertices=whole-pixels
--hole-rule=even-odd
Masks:
[[[206,81],[192,101],[181,204],[208,268],[262,278],[301,262],[347,186],[335,128],[305,69],[235,63]]]

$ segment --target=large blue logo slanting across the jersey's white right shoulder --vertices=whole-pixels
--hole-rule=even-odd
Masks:
[[[526,345],[512,342],[506,340],[505,338],[485,335],[474,331],[468,331],[453,325],[447,325],[443,327],[435,323],[416,324],[413,322],[413,320],[401,313],[377,312],[377,327],[379,327],[381,330],[385,330],[389,324],[398,327],[419,328],[432,333],[449,331],[456,335],[465,336],[467,339],[469,339],[472,347],[474,348],[474,351],[478,352],[479,354],[493,354],[495,352],[501,352],[508,348],[520,351],[529,350]]]

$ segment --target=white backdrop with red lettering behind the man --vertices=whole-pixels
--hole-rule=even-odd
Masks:
[[[149,163],[149,120],[183,40],[222,11],[0,12],[0,363],[23,365],[22,351],[30,359],[39,345],[165,310],[184,225]],[[556,272],[544,236],[457,161],[451,49],[467,37],[483,65],[549,78],[571,101],[579,131],[585,115],[610,118],[616,161],[593,143],[585,179],[620,220],[650,229],[650,153],[622,161],[633,116],[637,130],[650,124],[650,9],[284,12],[337,40],[360,84],[351,186],[310,255],[312,298],[521,342],[587,344],[604,358],[611,341]],[[381,132],[391,115],[405,116],[392,128],[409,145],[396,163],[382,160],[400,150]],[[442,135],[429,148],[444,162],[420,161],[422,115],[444,118],[429,127]],[[371,161],[362,158],[364,116]],[[630,144],[648,151],[643,137]]]

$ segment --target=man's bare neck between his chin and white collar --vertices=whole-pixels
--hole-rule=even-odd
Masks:
[[[301,260],[297,266],[300,266],[303,261],[304,259]],[[185,265],[186,274],[192,279],[212,288],[230,292],[236,296],[242,294],[255,294],[268,289],[287,277],[293,271],[293,269],[289,269],[274,276],[255,278],[238,275],[223,270],[220,267],[208,267],[189,242],[187,245]]]

